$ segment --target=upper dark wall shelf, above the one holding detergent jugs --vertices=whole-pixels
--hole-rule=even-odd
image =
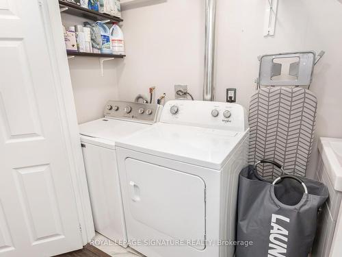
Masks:
[[[61,9],[63,8],[63,12],[67,14],[72,14],[75,16],[81,16],[86,19],[90,19],[92,21],[107,21],[109,20],[110,22],[115,22],[115,23],[120,23],[123,21],[123,19],[116,17],[116,16],[111,16],[109,14],[103,14],[101,12],[96,12],[94,10],[89,10],[86,8],[83,8],[79,5],[75,5],[73,3],[68,3],[66,1],[59,0]]]

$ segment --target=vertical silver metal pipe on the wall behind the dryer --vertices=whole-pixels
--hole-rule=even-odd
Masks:
[[[205,0],[205,81],[203,100],[215,100],[214,61],[215,61],[215,17],[216,0]]]

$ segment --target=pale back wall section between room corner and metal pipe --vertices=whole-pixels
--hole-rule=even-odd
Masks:
[[[120,99],[139,93],[174,97],[174,84],[187,84],[198,99],[204,63],[204,1],[169,0],[122,13],[127,57],[117,70]]]

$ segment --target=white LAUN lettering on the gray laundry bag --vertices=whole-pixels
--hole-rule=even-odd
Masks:
[[[269,233],[269,249],[267,257],[286,257],[289,231],[284,228],[284,226],[289,222],[290,219],[287,217],[272,214],[272,228]],[[280,225],[280,223],[283,225]]]

